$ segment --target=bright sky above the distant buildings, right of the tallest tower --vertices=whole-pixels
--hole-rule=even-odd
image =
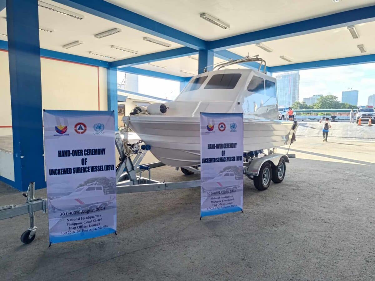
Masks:
[[[300,70],[300,102],[314,94],[332,94],[341,101],[341,92],[348,88],[359,91],[358,105],[367,105],[375,94],[375,63]]]

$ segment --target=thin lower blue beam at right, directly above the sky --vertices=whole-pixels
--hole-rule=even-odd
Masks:
[[[309,61],[306,63],[285,64],[282,66],[269,66],[268,71],[274,73],[334,66],[347,66],[363,63],[375,63],[375,55],[359,55],[357,57],[334,58],[331,60]]]

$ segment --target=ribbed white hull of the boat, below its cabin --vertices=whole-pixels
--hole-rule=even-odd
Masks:
[[[172,167],[200,165],[199,118],[135,115],[129,126],[160,162]],[[293,126],[293,121],[244,120],[244,151],[287,145]]]

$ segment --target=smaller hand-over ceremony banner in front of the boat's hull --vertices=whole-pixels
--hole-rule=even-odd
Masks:
[[[243,114],[201,113],[201,217],[242,211]]]

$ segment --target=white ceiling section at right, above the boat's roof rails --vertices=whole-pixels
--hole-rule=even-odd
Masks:
[[[359,39],[353,39],[347,27],[342,27],[263,42],[263,45],[273,49],[271,53],[255,46],[255,44],[231,48],[228,51],[242,56],[248,55],[248,53],[250,55],[259,54],[267,61],[267,66],[375,54],[375,22],[358,24],[355,27]],[[357,45],[361,44],[365,45],[366,53],[362,54],[357,48]],[[293,59],[293,62],[288,63],[282,60],[280,58],[282,55]]]

